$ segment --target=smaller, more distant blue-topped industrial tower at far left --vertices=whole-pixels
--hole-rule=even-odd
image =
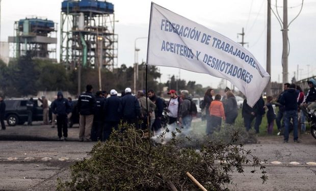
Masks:
[[[20,19],[14,23],[14,36],[8,38],[11,56],[19,58],[27,51],[32,57],[56,60],[57,24],[40,17]]]

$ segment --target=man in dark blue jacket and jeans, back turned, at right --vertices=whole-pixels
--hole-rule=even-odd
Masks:
[[[294,142],[300,143],[301,141],[298,139],[298,104],[297,98],[299,96],[299,92],[296,90],[295,84],[289,85],[287,91],[283,93],[280,98],[280,103],[284,105],[285,116],[284,116],[284,143],[288,142],[288,131],[289,131],[289,121],[293,119],[293,135]]]

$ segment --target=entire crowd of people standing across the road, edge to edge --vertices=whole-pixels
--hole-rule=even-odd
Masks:
[[[255,119],[254,129],[258,133],[262,117],[267,113],[267,131],[272,134],[274,121],[276,121],[279,133],[284,127],[284,142],[288,142],[289,130],[293,128],[294,142],[299,143],[298,127],[305,130],[305,116],[308,111],[316,109],[316,81],[308,81],[309,90],[304,95],[302,89],[295,84],[284,84],[284,91],[278,96],[276,102],[272,96],[267,97],[265,103],[262,97],[253,107],[244,100],[242,106],[242,117],[246,130],[251,129],[251,124]],[[94,95],[91,85],[87,85],[86,92],[78,97],[77,110],[80,114],[79,141],[105,141],[109,139],[112,129],[117,129],[120,121],[123,123],[134,124],[136,128],[145,129],[149,127],[153,132],[159,133],[162,128],[162,118],[164,107],[167,108],[169,125],[175,124],[183,127],[186,133],[190,130],[193,117],[196,115],[196,106],[189,96],[188,91],[182,91],[178,96],[175,90],[170,90],[170,100],[165,101],[156,96],[153,90],[147,92],[138,91],[134,96],[131,89],[126,88],[121,97],[117,96],[116,90],[110,91],[110,96],[106,91],[97,91]],[[225,94],[215,95],[213,89],[207,89],[204,95],[201,109],[205,108],[206,113],[206,134],[212,134],[219,130],[222,120],[225,124],[233,125],[238,116],[238,105],[236,98],[229,88],[225,89]],[[108,97],[108,98],[107,98]],[[45,96],[39,98],[43,107],[43,124],[48,125],[49,105]],[[276,106],[279,107],[276,114]],[[0,122],[4,130],[5,102],[0,97]],[[31,98],[27,102],[28,125],[32,125],[32,113],[34,111],[34,100]],[[67,120],[71,117],[72,101],[71,98],[64,98],[62,92],[58,92],[56,99],[51,103],[52,127],[57,121],[58,139],[67,140]],[[298,114],[300,115],[300,122]],[[281,120],[283,121],[281,123]],[[293,121],[291,124],[290,121]],[[292,128],[291,128],[292,127]]]

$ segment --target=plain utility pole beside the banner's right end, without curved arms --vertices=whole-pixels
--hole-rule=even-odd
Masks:
[[[271,0],[268,0],[268,19],[267,19],[267,72],[270,75],[269,83],[266,87],[267,95],[271,92]]]

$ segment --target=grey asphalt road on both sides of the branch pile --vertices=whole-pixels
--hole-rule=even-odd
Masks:
[[[67,142],[57,141],[57,128],[34,126],[7,127],[0,131],[0,190],[55,190],[57,178],[69,178],[68,167],[88,157],[92,142],[77,142],[78,128],[68,130]],[[293,139],[293,137],[292,137]],[[291,140],[291,137],[290,137]],[[260,174],[245,166],[244,174],[232,174],[232,190],[315,190],[316,140],[301,135],[302,143],[282,137],[260,137],[259,144],[246,145],[260,159],[267,159],[269,180],[262,184]],[[271,162],[281,162],[274,165]],[[291,165],[290,162],[299,165]]]

